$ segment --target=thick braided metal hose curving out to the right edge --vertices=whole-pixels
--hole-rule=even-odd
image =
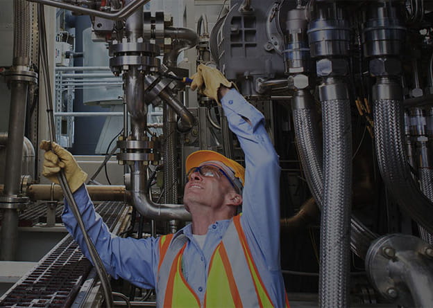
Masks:
[[[385,96],[393,93],[393,89],[389,90],[391,87],[398,87],[398,85],[387,85],[387,89],[382,91]],[[406,161],[402,100],[380,99],[380,92],[380,88],[375,86],[373,89],[375,145],[380,173],[393,199],[398,201],[412,219],[428,232],[433,233],[432,203],[419,190]],[[393,96],[397,97],[398,92]]]

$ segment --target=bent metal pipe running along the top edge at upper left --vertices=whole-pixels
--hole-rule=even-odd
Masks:
[[[119,12],[108,13],[102,12],[100,10],[92,10],[90,8],[83,8],[80,6],[74,6],[72,4],[68,4],[62,1],[54,1],[54,0],[28,0],[31,2],[46,4],[47,6],[53,6],[55,8],[64,8],[65,10],[71,10],[72,12],[78,12],[83,15],[90,15],[96,17],[102,17],[110,20],[121,20],[129,17],[135,12],[139,7],[144,6],[144,4],[148,3],[150,0],[137,0],[128,3],[124,8],[119,10]]]

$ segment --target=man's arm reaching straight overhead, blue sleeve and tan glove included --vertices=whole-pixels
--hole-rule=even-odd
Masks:
[[[269,269],[279,269],[280,166],[264,128],[264,116],[217,69],[197,68],[191,88],[220,102],[245,154],[246,176],[241,224],[248,241],[257,242]]]

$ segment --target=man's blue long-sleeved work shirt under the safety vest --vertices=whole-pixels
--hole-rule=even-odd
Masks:
[[[229,127],[237,135],[245,154],[245,185],[241,226],[250,246],[253,259],[275,307],[285,306],[285,287],[280,271],[280,166],[278,155],[264,127],[264,116],[249,104],[235,89],[221,99]],[[248,119],[248,123],[245,119]],[[94,212],[85,186],[74,192],[87,233],[108,273],[124,278],[146,289],[156,285],[160,257],[158,238],[133,239],[110,234],[101,217]],[[87,257],[87,247],[76,219],[65,202],[63,222],[80,244]],[[188,284],[203,302],[207,271],[215,248],[221,242],[230,220],[217,221],[207,229],[203,249],[192,235],[188,224],[178,233],[189,241],[182,255],[182,273]],[[176,235],[175,235],[176,236]]]

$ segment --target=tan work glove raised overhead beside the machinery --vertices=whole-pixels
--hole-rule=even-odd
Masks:
[[[235,84],[228,81],[220,71],[204,64],[197,66],[197,73],[192,75],[191,78],[193,79],[191,83],[191,89],[193,91],[198,89],[198,93],[212,98],[212,100],[216,100],[217,102],[219,102],[219,87],[236,88]]]

